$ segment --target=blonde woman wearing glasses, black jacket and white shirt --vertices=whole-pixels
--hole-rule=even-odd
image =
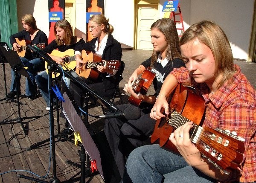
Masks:
[[[122,80],[121,75],[124,69],[124,63],[121,61],[121,44],[113,38],[113,35],[111,35],[114,30],[113,26],[108,23],[108,20],[104,15],[93,15],[92,17],[90,17],[88,25],[89,31],[95,38],[93,38],[89,42],[76,46],[76,67],[77,69],[82,70],[82,64],[85,63],[81,60],[82,50],[90,51],[96,53],[97,55],[100,55],[103,61],[120,61],[121,67],[118,71],[98,65],[98,78],[93,80],[90,78],[81,77],[86,82],[86,84],[88,84],[90,89],[94,90],[99,96],[113,96],[116,84],[118,84],[119,81]],[[73,97],[77,104],[81,106],[81,96],[84,95],[85,91],[72,81],[70,82],[70,91],[73,94]]]

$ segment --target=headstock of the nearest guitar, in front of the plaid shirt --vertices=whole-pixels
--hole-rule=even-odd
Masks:
[[[197,127],[191,141],[215,167],[225,171],[237,169],[243,160],[244,142],[241,137],[219,128]],[[195,132],[194,131],[194,132]]]

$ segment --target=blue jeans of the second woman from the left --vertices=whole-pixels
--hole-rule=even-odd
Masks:
[[[67,85],[70,84],[70,79],[69,78],[65,78],[65,81],[67,81]],[[38,73],[35,76],[35,82],[38,86],[38,89],[40,90],[40,93],[47,105],[47,107],[50,107],[50,99],[49,99],[49,89],[48,89],[48,74],[47,72],[44,70],[41,73]],[[52,93],[53,96],[53,102],[56,102],[55,100],[55,94]]]

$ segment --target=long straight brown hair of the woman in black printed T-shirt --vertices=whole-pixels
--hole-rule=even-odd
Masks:
[[[174,58],[181,58],[179,36],[175,23],[169,18],[161,18],[155,21],[150,29],[157,28],[160,32],[165,35],[165,40],[168,43],[166,58],[172,60]],[[151,57],[151,67],[157,62],[157,58],[160,52],[153,50]]]

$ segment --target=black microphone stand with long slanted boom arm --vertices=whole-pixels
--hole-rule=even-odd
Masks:
[[[54,123],[53,123],[53,105],[52,105],[52,92],[51,92],[51,73],[52,71],[54,72],[58,72],[58,73],[62,73],[62,68],[55,62],[52,60],[52,58],[50,58],[49,55],[47,55],[46,52],[35,48],[34,46],[28,45],[29,49],[31,49],[32,51],[38,53],[42,58],[44,58],[47,62],[48,62],[48,87],[49,87],[49,99],[50,99],[50,126],[51,126],[51,130],[50,130],[50,138],[52,139],[52,164],[53,164],[53,175],[54,178],[51,181],[51,183],[60,183],[60,180],[57,178],[56,176],[56,161],[55,161],[55,135],[54,135]],[[67,78],[69,78],[71,81],[73,81],[74,83],[78,84],[80,87],[82,87],[84,90],[86,90],[88,93],[91,93],[92,95],[98,97],[102,103],[104,103],[104,105],[108,108],[109,111],[111,111],[111,113],[115,113],[117,111],[119,111],[119,109],[116,107],[116,105],[113,104],[113,102],[110,102],[108,99],[104,99],[102,96],[99,96],[97,93],[95,93],[93,90],[90,89],[90,87],[87,86],[87,84],[76,74],[75,71],[70,70],[63,70],[65,76]],[[86,109],[87,110],[87,109]],[[80,153],[79,153],[80,154]],[[87,160],[87,168],[85,168],[85,159]],[[80,160],[81,160],[81,183],[85,183],[85,171],[88,170],[88,168],[90,168],[89,165],[89,155],[85,152],[85,149],[83,147],[83,145],[81,145],[81,154],[80,154]],[[68,161],[68,163],[70,163],[70,161]],[[89,169],[90,170],[90,169]],[[90,174],[88,174],[90,175]],[[18,177],[21,178],[25,178],[25,179],[29,179],[29,180],[35,180],[35,178],[32,179],[32,177],[28,177],[25,175],[18,175]],[[40,182],[41,180],[35,180]]]

